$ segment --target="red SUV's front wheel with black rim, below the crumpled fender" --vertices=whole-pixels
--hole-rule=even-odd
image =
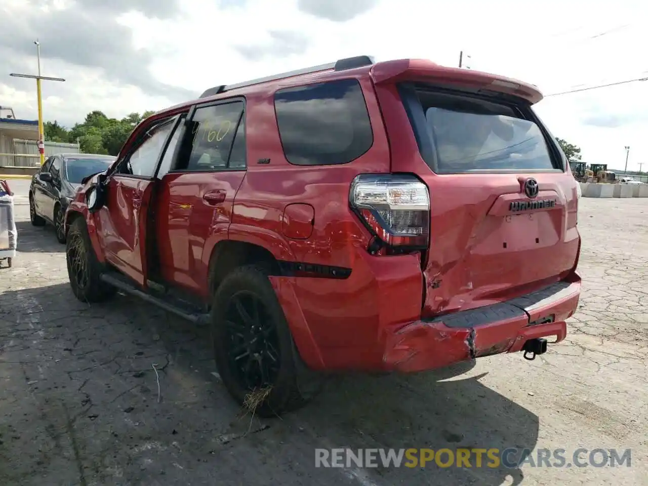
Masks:
[[[75,297],[95,303],[110,299],[117,289],[100,280],[102,264],[92,248],[84,218],[76,218],[67,233],[67,275]]]

